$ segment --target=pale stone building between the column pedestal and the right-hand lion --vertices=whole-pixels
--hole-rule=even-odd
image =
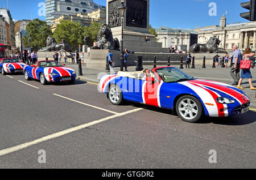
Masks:
[[[197,33],[196,31],[190,29],[174,29],[167,27],[160,27],[156,29],[158,33],[158,42],[162,42],[163,48],[176,48],[178,46],[186,47],[187,51],[189,47],[197,43]]]

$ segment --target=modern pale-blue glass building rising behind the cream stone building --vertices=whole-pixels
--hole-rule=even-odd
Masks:
[[[93,0],[46,0],[46,23],[51,25],[53,19],[61,15],[74,15],[79,12],[88,13],[98,8],[106,8],[97,5]]]

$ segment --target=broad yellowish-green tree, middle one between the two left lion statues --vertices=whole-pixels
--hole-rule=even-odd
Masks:
[[[53,37],[57,42],[64,38],[65,43],[75,50],[79,44],[84,44],[84,28],[80,23],[71,22],[71,20],[61,20],[53,32]]]

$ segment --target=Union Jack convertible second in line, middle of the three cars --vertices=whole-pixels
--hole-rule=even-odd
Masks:
[[[48,82],[69,82],[76,80],[76,71],[69,67],[64,67],[57,61],[38,61],[36,65],[24,66],[25,79],[37,79],[43,85]]]

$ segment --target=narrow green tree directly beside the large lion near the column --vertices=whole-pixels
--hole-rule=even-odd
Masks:
[[[93,46],[93,42],[97,41],[98,32],[100,31],[102,23],[93,22],[90,27],[84,27],[84,34],[86,35],[86,44],[90,47]]]

